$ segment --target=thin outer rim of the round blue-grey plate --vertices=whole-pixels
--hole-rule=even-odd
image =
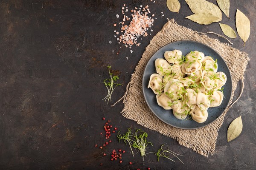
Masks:
[[[198,42],[198,41],[193,41],[193,40],[179,40],[179,41],[173,41],[173,42],[170,42],[170,43],[168,43],[168,44],[162,46],[161,48],[164,48],[164,47],[166,47],[167,45],[170,45],[170,44],[175,43],[175,42],[196,42],[196,43],[199,43],[199,44],[201,44],[201,45],[205,45],[205,46],[207,46],[208,48],[210,48],[210,49],[212,49],[213,51],[215,51],[215,49],[213,49],[213,48],[210,47],[209,45],[206,45],[206,44],[201,43],[201,42]],[[159,48],[157,51],[159,51],[161,48]],[[154,54],[156,54],[157,51],[156,51]],[[221,57],[221,55],[220,55],[217,51],[215,51],[215,53],[217,53],[217,54]],[[150,57],[150,59],[154,56],[154,54]],[[149,59],[149,60],[150,60],[150,59]],[[223,59],[223,57],[221,57],[221,59]],[[148,108],[150,109],[150,111],[151,111],[155,116],[157,116],[157,114],[154,113],[154,111],[151,109],[151,106],[148,104],[148,101],[147,101],[147,99],[145,98],[145,91],[144,91],[144,88],[143,88],[144,82],[145,82],[145,76],[144,76],[144,75],[145,75],[145,69],[146,69],[146,67],[148,66],[149,60],[148,60],[147,64],[145,65],[145,68],[144,68],[144,71],[143,71],[142,91],[143,91],[143,97],[144,97],[144,99],[145,99],[146,104],[148,105]],[[224,61],[225,65],[227,66],[226,61],[225,61],[224,59],[223,59],[223,61]],[[231,79],[231,95],[232,95],[232,91],[233,91],[233,82],[232,82],[232,76],[231,76],[231,73],[230,73],[230,69],[228,68],[228,66],[227,66],[227,70],[228,70],[228,72],[229,72],[229,74],[230,74],[230,79]],[[228,99],[228,102],[227,102],[227,106],[225,107],[224,111],[226,111],[227,107],[229,106],[230,99],[231,99],[231,95],[229,96],[229,99]],[[221,113],[220,116],[218,116],[218,118],[223,115],[224,111]],[[169,123],[165,122],[165,120],[161,119],[159,116],[157,116],[157,118],[160,119],[160,120],[161,120],[163,123],[165,123],[166,125],[169,125],[169,126],[172,126],[172,127],[176,127],[176,126],[174,126],[174,125],[170,125]],[[211,124],[212,124],[213,122],[215,122],[218,118],[214,119],[214,120],[213,120],[212,122],[210,122],[209,124],[203,125],[203,126],[200,126],[200,127],[191,127],[191,128],[176,127],[176,128],[178,128],[178,129],[184,129],[184,130],[200,129],[200,128],[206,127],[206,126],[208,126],[208,125],[211,125]]]

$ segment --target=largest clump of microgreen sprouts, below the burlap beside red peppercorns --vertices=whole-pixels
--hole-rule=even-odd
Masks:
[[[140,151],[140,156],[143,157],[143,160],[144,160],[144,156],[147,154],[145,152],[148,144],[151,144],[151,146],[153,146],[151,142],[147,141],[147,137],[148,137],[148,133],[144,132],[143,130],[135,129],[135,132],[132,133],[131,128],[128,128],[128,132],[126,132],[125,134],[120,135],[118,132],[118,135],[117,135],[119,142],[122,139],[124,140],[125,144],[127,143],[129,144],[133,157],[134,157],[134,152],[132,148],[134,148],[135,150],[138,149]]]

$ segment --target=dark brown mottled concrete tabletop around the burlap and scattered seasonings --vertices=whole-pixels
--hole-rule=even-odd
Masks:
[[[209,1],[217,4],[215,0]],[[218,23],[201,26],[185,19],[192,12],[183,0],[180,0],[179,14],[168,10],[166,0],[156,3],[149,0],[1,0],[0,169],[255,169],[256,1],[230,1],[231,19],[223,14],[221,23],[235,29],[236,9],[247,15],[251,22],[249,40],[243,46],[238,36],[231,40],[234,43],[231,46],[248,53],[250,61],[244,74],[244,93],[227,113],[214,155],[206,158],[180,146],[174,139],[122,117],[122,103],[110,107],[102,101],[106,95],[102,81],[108,77],[106,66],[111,65],[123,85],[113,94],[112,103],[117,101],[124,94],[145,47],[161,30],[167,17],[196,31],[223,35]],[[157,17],[152,35],[143,38],[139,47],[132,47],[132,54],[129,48],[119,49],[113,37],[112,25],[118,21],[116,14],[122,17],[124,3],[129,10],[148,4]],[[236,91],[236,96],[238,93]],[[243,131],[227,143],[227,128],[240,115]],[[128,146],[118,143],[116,134],[112,134],[113,142],[103,150],[95,148],[94,144],[100,146],[104,141],[100,135],[104,133],[102,117],[110,119],[111,124],[123,132],[128,127],[145,130],[154,145],[148,152],[167,144],[171,150],[184,155],[181,157],[184,164],[177,159],[172,162],[160,158],[157,162],[152,153],[144,161],[139,154],[133,158]],[[110,161],[113,149],[127,151],[122,156],[122,164]],[[103,153],[108,155],[103,157]],[[133,164],[128,165],[129,161]]]

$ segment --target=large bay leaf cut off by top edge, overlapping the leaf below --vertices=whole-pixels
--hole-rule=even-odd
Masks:
[[[219,22],[222,20],[222,13],[218,6],[210,3],[206,0],[186,0],[186,3],[189,5],[189,8],[194,14],[199,13],[209,13],[215,17],[218,17],[213,22]]]

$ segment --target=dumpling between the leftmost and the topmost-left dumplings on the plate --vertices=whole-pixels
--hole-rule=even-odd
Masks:
[[[157,73],[164,76],[172,72],[172,65],[170,65],[165,59],[158,58],[155,60],[155,67]]]

